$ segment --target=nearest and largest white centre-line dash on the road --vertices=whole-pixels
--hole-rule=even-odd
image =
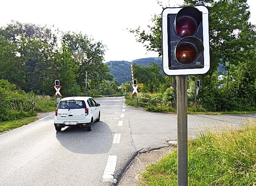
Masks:
[[[114,173],[116,170],[116,161],[117,161],[117,155],[109,155],[108,161],[106,164],[106,168],[103,173],[103,182],[112,182],[116,183],[116,179],[114,179]]]

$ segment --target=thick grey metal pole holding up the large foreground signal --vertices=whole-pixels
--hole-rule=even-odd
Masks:
[[[187,76],[177,76],[178,186],[188,186]]]

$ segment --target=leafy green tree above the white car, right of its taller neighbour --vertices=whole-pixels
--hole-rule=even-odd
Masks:
[[[78,84],[83,87],[87,71],[87,78],[97,86],[104,80],[112,80],[114,76],[109,73],[108,65],[102,63],[104,59],[105,46],[101,42],[94,42],[82,33],[64,33],[62,36],[63,45],[72,52],[78,69]]]

